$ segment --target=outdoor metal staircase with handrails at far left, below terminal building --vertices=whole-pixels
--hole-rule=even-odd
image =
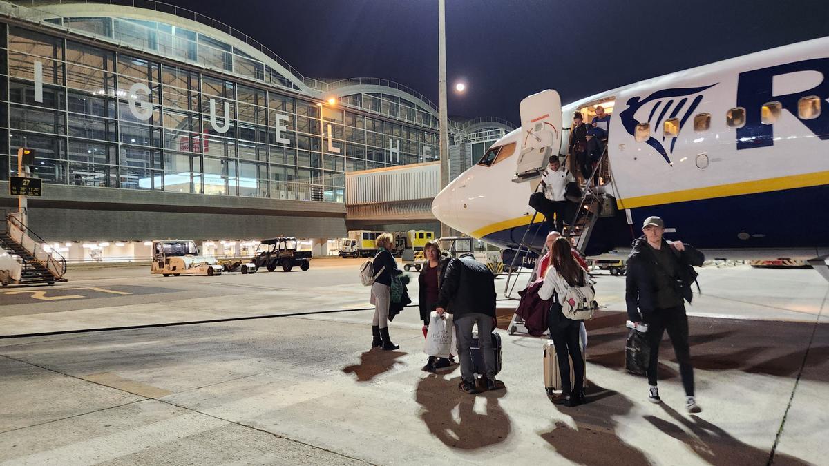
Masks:
[[[66,260],[22,221],[21,212],[7,214],[0,226],[0,285],[65,282]]]

